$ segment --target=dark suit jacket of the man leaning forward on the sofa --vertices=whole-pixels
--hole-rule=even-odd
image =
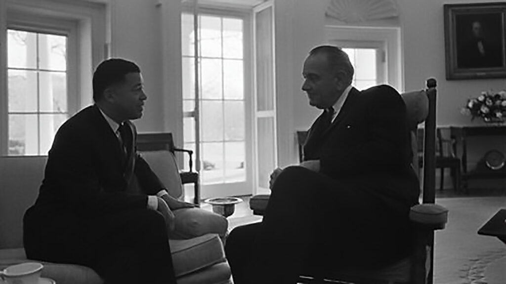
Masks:
[[[146,208],[147,195],[155,195],[163,185],[135,151],[135,126],[130,121],[125,123],[130,129],[124,139],[128,143],[126,157],[96,105],[67,120],[49,151],[34,207],[87,217]],[[145,194],[131,193],[129,188],[136,187],[134,183]]]

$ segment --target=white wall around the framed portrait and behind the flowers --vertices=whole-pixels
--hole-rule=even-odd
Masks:
[[[471,125],[470,117],[460,109],[470,97],[481,91],[506,88],[506,79],[445,79],[443,4],[480,3],[487,0],[405,0],[398,1],[404,52],[405,89],[419,89],[424,79],[438,80],[437,122],[440,126]],[[481,123],[476,120],[472,124]]]

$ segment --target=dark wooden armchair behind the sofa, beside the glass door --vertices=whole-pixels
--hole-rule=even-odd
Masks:
[[[193,151],[176,148],[174,146],[174,140],[172,138],[172,133],[141,133],[137,134],[137,151],[159,151],[159,150],[168,150],[173,155],[175,152],[184,152],[187,153],[190,157],[188,166],[189,171],[180,171],[181,182],[183,184],[193,183],[195,197],[193,198],[193,203],[196,205],[200,204],[200,187],[198,182],[198,173],[193,171]]]

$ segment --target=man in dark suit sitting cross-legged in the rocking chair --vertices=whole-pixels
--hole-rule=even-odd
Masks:
[[[340,48],[309,53],[302,89],[323,112],[304,161],[271,175],[263,221],[230,233],[225,252],[236,284],[295,283],[301,273],[379,268],[409,254],[419,185],[405,105],[387,85],[355,89],[353,72]]]

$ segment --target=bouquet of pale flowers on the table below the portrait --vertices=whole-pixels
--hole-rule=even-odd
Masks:
[[[471,115],[471,120],[480,117],[485,122],[502,123],[506,119],[506,91],[482,91],[478,98],[468,100],[462,113]]]

